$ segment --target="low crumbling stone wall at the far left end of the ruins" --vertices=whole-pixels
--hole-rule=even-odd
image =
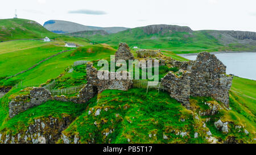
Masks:
[[[17,96],[9,103],[9,116],[13,118],[28,108],[38,106],[51,99],[51,93],[44,87],[34,87],[30,95]]]

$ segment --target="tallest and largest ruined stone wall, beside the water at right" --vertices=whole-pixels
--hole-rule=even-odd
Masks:
[[[175,63],[187,72],[184,72],[185,74],[179,78],[170,72],[162,79],[162,85],[169,89],[171,97],[179,100],[187,107],[189,107],[187,99],[190,95],[193,97],[213,97],[229,107],[229,89],[233,78],[225,75],[226,66],[216,56],[202,52],[197,55],[195,61],[182,63],[175,61]],[[184,86],[186,88],[183,88]]]

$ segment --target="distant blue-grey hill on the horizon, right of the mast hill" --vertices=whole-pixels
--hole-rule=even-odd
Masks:
[[[44,23],[44,27],[55,33],[72,33],[79,31],[89,31],[89,30],[104,30],[108,33],[117,33],[119,31],[127,30],[126,27],[94,27],[94,26],[84,26],[82,24],[77,24],[73,22],[68,22],[64,20],[48,20]]]

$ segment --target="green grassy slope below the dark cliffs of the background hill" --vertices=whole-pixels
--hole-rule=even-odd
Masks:
[[[215,52],[215,51],[247,51],[255,49],[256,41],[240,43],[230,38],[229,44],[222,43],[221,34],[218,37],[212,31],[176,32],[162,30],[157,33],[148,33],[143,28],[132,28],[107,36],[88,36],[95,43],[118,45],[125,42],[131,47],[137,46],[146,49],[168,49],[173,52]],[[226,39],[226,38],[225,38]]]

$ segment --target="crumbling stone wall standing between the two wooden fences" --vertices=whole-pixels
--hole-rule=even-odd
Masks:
[[[98,73],[104,77],[108,77],[108,79],[99,79]],[[87,84],[84,88],[80,90],[79,94],[79,102],[85,103],[89,99],[93,98],[96,94],[101,93],[107,89],[116,89],[116,90],[124,90],[127,91],[131,85],[133,84],[131,77],[128,72],[122,72],[120,75],[126,75],[127,79],[118,79],[111,77],[115,74],[114,72],[109,71],[100,71],[93,67],[92,62],[88,62],[86,65],[86,74],[87,74]],[[102,77],[103,78],[103,77]]]

